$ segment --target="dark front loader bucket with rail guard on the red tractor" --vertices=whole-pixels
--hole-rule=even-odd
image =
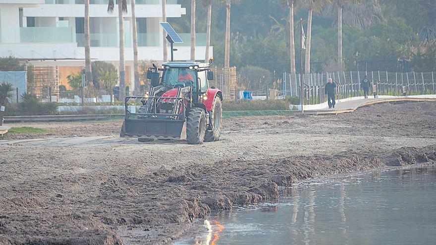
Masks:
[[[129,101],[140,99],[143,105],[135,106],[139,112],[131,112]],[[131,107],[130,107],[131,108]],[[185,139],[186,122],[183,97],[135,97],[125,98],[125,119],[121,137],[147,139]]]

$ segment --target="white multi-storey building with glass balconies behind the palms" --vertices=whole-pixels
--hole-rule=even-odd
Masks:
[[[125,14],[126,85],[133,88],[131,8]],[[57,66],[59,85],[84,66],[84,0],[0,0],[0,56],[15,56],[35,66]],[[90,0],[91,58],[118,67],[118,11],[108,13],[108,0]],[[186,9],[167,0],[166,15],[177,18]],[[161,0],[136,0],[138,58],[163,60]],[[190,35],[180,34],[174,59],[190,58]],[[206,34],[197,34],[196,59],[204,59]],[[168,58],[169,58],[168,45]],[[212,48],[211,48],[212,54]]]

